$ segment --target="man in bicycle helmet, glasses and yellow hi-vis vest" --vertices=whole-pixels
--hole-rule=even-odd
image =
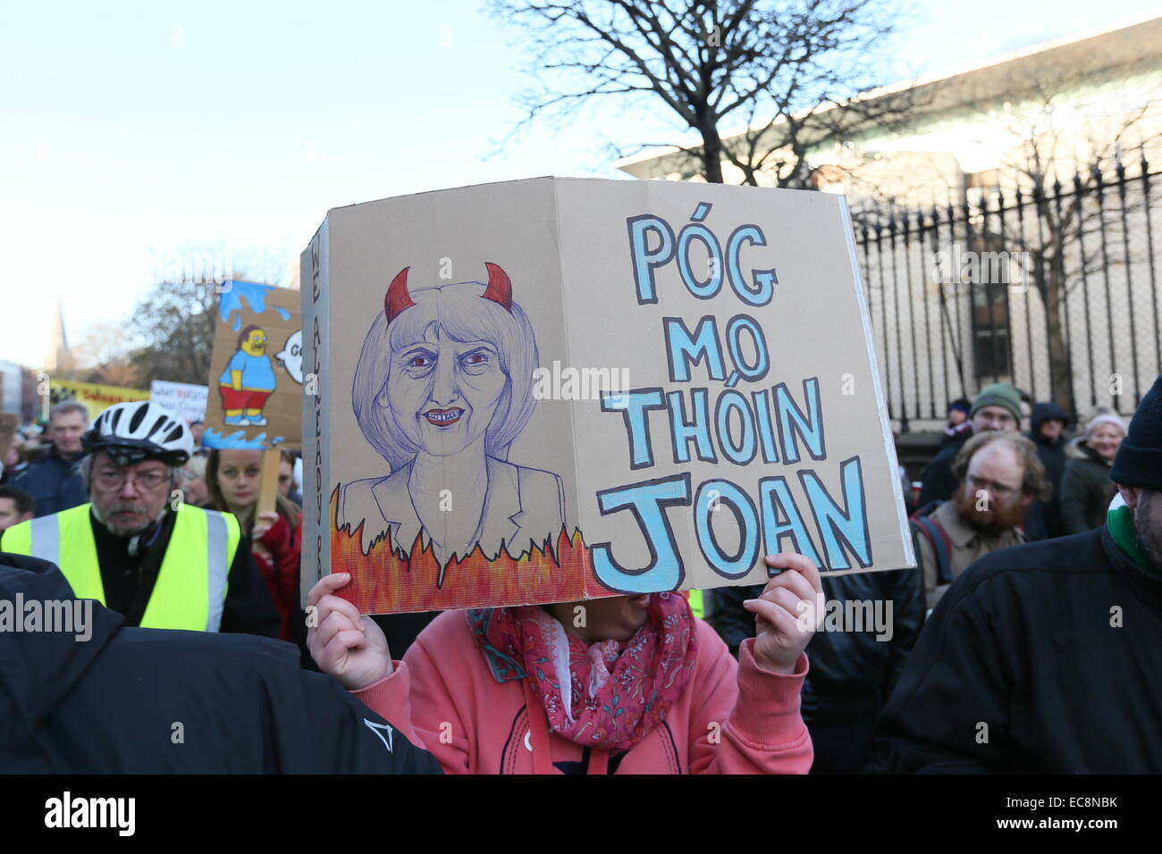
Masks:
[[[266,584],[229,514],[182,501],[193,439],[151,401],[109,407],[84,436],[91,503],[14,525],[0,551],[60,567],[78,598],[127,626],[278,637]]]

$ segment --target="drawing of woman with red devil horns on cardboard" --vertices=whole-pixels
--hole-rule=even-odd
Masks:
[[[488,282],[408,290],[392,280],[356,367],[351,403],[367,442],[390,465],[386,478],[339,489],[336,523],[363,525],[368,552],[390,534],[408,557],[416,538],[439,564],[476,546],[488,560],[551,547],[565,522],[561,479],[508,462],[536,407],[537,342],[512,301],[508,274]]]

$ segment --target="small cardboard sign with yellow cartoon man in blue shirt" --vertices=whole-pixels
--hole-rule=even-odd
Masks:
[[[299,292],[221,286],[206,401],[206,447],[296,450],[302,442]]]

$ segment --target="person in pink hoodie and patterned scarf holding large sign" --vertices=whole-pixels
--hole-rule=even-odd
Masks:
[[[336,595],[346,573],[310,590],[307,646],[447,773],[803,774],[803,650],[822,584],[802,555],[766,562],[782,572],[745,605],[758,631],[738,663],[676,593],[446,611],[393,662],[375,623]]]

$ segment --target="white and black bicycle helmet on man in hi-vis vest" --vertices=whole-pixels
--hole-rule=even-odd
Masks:
[[[152,401],[109,407],[93,419],[81,442],[88,453],[105,451],[119,466],[144,459],[182,466],[194,452],[194,437],[181,417]]]

